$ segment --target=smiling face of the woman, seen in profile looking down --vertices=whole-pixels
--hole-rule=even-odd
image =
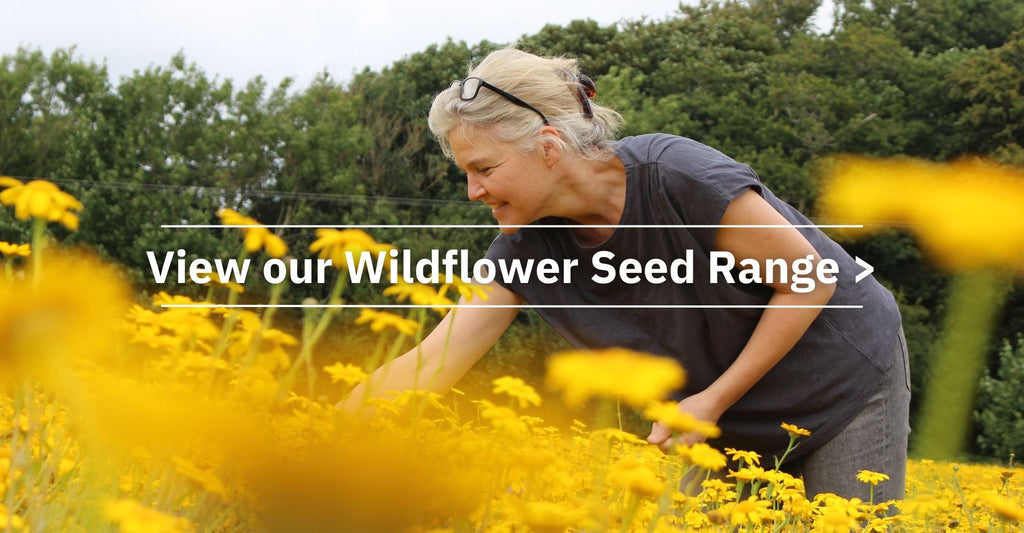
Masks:
[[[522,152],[487,135],[470,139],[461,127],[452,130],[449,142],[456,165],[466,173],[469,199],[486,204],[499,224],[524,226],[555,214],[548,212],[554,176],[544,149]]]

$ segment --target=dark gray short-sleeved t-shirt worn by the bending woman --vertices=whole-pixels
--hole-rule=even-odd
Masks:
[[[626,205],[620,225],[716,225],[729,203],[748,189],[760,193],[793,224],[811,224],[777,198],[746,165],[691,139],[651,134],[622,139],[616,148],[626,164]],[[546,218],[537,224],[568,224]],[[672,357],[682,363],[687,384],[680,397],[703,390],[732,364],[746,344],[763,309],[671,308],[607,309],[602,305],[764,305],[772,290],[763,284],[711,283],[714,227],[615,228],[604,242],[581,246],[568,228],[520,228],[499,235],[486,257],[499,259],[579,259],[571,283],[513,280],[505,286],[532,305],[567,305],[537,312],[578,348],[625,347]],[[742,398],[719,426],[720,447],[780,456],[788,443],[782,423],[812,432],[791,455],[796,458],[828,442],[860,410],[892,360],[900,316],[892,294],[873,277],[854,283],[862,269],[817,228],[800,228],[822,258],[839,264],[830,305],[861,309],[822,310],[794,349]],[[596,282],[604,272],[592,268],[598,252],[611,252],[616,264],[669,262],[693,251],[693,280],[654,284]],[[608,263],[608,261],[604,261]],[[504,280],[500,280],[505,283]],[[578,307],[577,307],[578,306]]]

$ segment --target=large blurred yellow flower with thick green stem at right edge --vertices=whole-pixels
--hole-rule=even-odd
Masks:
[[[1024,273],[1024,172],[973,158],[844,157],[827,170],[823,217],[906,224],[937,264],[958,271],[913,443],[916,455],[952,459],[968,439],[986,345],[1008,293],[1006,272]]]

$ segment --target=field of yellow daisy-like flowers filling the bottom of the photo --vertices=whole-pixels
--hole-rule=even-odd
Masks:
[[[55,189],[18,190],[9,196],[20,210],[43,205],[26,194]],[[60,209],[78,206],[59,198],[27,213],[65,223]],[[244,219],[225,215],[225,223]],[[243,236],[247,254],[285,253],[268,230]],[[358,237],[344,246],[381,246]],[[327,242],[330,233],[319,238],[314,251],[342,246]],[[518,376],[496,380],[487,397],[396,393],[372,400],[375,416],[347,415],[333,406],[341,398],[312,394],[314,384],[347,390],[365,380],[418,335],[422,314],[328,309],[296,338],[274,327],[272,309],[218,307],[236,301],[231,287],[206,302],[161,293],[132,303],[116,266],[32,245],[32,257],[12,255],[0,277],[2,531],[994,532],[1024,524],[1024,469],[1012,464],[913,460],[903,501],[808,500],[799,479],[743,450],[697,444],[663,454],[611,417],[556,427],[546,413],[570,406],[544,404]],[[451,287],[427,288],[393,292],[450,302]],[[164,307],[194,304],[211,305]],[[372,328],[375,352],[314,364],[333,319]],[[570,352],[552,358],[548,381],[568,404],[613,413],[622,400],[662,418],[663,393],[685,375],[666,364],[620,350]],[[629,389],[607,379],[624,369],[636,373]],[[791,425],[778,431],[798,443],[806,436]],[[884,474],[858,478],[873,485]],[[681,487],[684,478],[693,482]]]

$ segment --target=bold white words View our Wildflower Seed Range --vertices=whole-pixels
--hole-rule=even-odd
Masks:
[[[154,280],[165,283],[176,273],[179,283],[191,281],[205,284],[214,276],[222,282],[245,283],[249,274],[249,259],[185,259],[184,250],[164,253],[162,259],[155,252],[146,252]],[[485,284],[495,280],[510,282],[572,283],[580,270],[578,259],[499,260],[481,258],[470,261],[468,250],[433,250],[428,257],[414,260],[409,250],[346,251],[343,255],[349,279],[353,283],[439,283],[452,276]],[[831,259],[814,260],[807,256],[794,261],[768,259],[764,262],[742,259],[738,262],[729,252],[713,251],[709,271],[712,283],[787,283],[794,293],[809,293],[817,283],[837,281],[839,264]],[[596,283],[692,283],[693,251],[686,250],[682,257],[649,259],[641,262],[635,258],[616,258],[611,252],[598,252],[591,259],[587,272]],[[327,271],[334,266],[333,259],[269,259],[263,264],[263,279],[281,283],[324,283]],[[586,275],[586,274],[584,274]],[[860,276],[858,276],[858,279]]]

